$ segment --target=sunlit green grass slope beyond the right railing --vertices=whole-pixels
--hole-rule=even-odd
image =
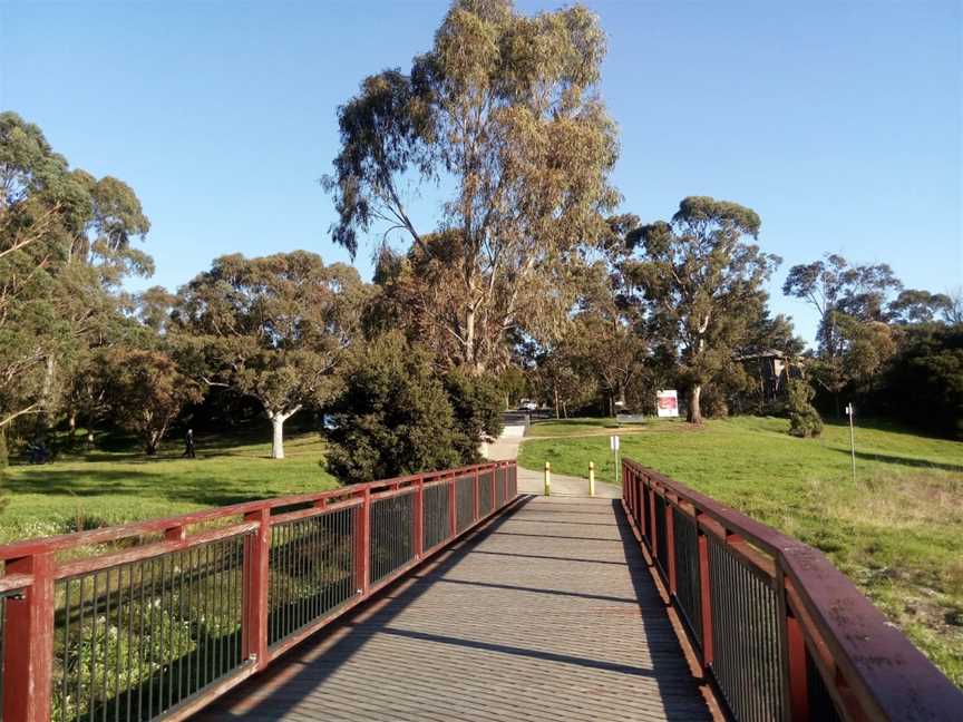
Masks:
[[[542,433],[542,427],[548,433]],[[784,419],[677,420],[624,430],[622,453],[826,552],[963,686],[963,443],[875,425],[795,439]],[[594,427],[594,428],[593,428]],[[534,425],[519,464],[610,480],[609,438],[585,420]],[[587,430],[586,430],[587,429]]]

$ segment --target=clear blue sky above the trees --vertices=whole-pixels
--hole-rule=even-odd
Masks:
[[[779,292],[794,263],[836,252],[888,262],[912,287],[963,284],[960,0],[587,4],[609,33],[623,211],[667,217],[687,195],[755,208],[761,245],[785,258],[772,306],[809,340],[811,312]],[[347,260],[318,185],[335,108],[366,75],[410,67],[446,8],[0,0],[0,108],[135,188],[149,284],[175,289],[234,251]],[[435,195],[415,208],[421,227]]]

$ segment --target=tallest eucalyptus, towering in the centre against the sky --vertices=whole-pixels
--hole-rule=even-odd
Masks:
[[[617,202],[616,130],[597,92],[604,52],[582,6],[526,17],[508,0],[457,0],[409,72],[366,78],[338,110],[332,237],[352,254],[368,232],[410,241],[412,279],[425,265],[436,273],[440,310],[426,313],[459,365],[496,365],[506,334],[524,324],[548,335],[572,305],[565,267]],[[406,184],[436,183],[446,198],[426,228]]]

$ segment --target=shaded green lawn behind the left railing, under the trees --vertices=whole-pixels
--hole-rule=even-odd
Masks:
[[[196,459],[182,459],[183,446],[169,442],[153,458],[127,447],[11,466],[0,482],[0,543],[338,485],[319,466],[317,433],[290,436],[280,460],[270,458],[268,437],[266,423],[226,439],[201,437]]]

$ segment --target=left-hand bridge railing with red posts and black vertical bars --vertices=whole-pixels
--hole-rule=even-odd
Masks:
[[[499,461],[0,546],[0,719],[184,719],[516,496]]]

